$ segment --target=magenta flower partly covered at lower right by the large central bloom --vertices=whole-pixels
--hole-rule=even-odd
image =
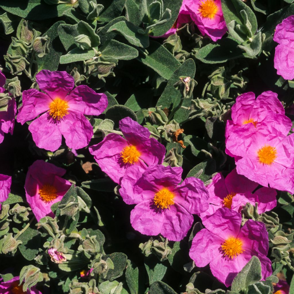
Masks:
[[[146,164],[161,164],[166,153],[165,147],[150,137],[147,128],[140,126],[131,118],[119,122],[123,133],[107,135],[102,142],[90,146],[89,151],[104,173],[115,183],[120,183],[126,170],[133,166],[146,168]]]

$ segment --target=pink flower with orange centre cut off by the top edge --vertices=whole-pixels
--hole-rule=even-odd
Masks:
[[[184,3],[201,34],[217,41],[226,33],[220,0],[186,0]]]

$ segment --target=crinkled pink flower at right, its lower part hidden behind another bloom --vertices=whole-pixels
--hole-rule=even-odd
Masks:
[[[261,93],[256,100],[253,92],[243,93],[237,97],[231,111],[232,120],[226,124],[225,144],[226,153],[233,157],[236,155],[233,150],[244,147],[247,142],[244,138],[250,138],[253,133],[275,124],[286,136],[292,127],[278,94],[272,91]]]

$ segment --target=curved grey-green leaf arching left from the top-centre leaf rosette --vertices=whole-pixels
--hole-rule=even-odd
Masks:
[[[135,26],[129,21],[120,21],[113,24],[107,32],[117,32],[123,35],[130,44],[138,47],[148,47],[149,46],[149,36],[142,35],[138,33],[138,26]]]

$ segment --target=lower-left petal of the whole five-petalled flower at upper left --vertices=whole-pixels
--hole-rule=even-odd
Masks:
[[[33,140],[39,148],[56,151],[61,145],[61,133],[57,123],[48,113],[44,113],[29,125]]]

